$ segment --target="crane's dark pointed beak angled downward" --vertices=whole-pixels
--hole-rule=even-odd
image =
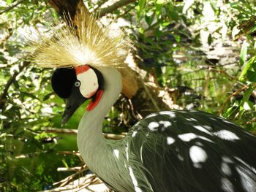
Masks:
[[[87,99],[80,94],[78,88],[72,90],[71,95],[66,99],[66,107],[62,115],[61,126],[64,126],[67,123],[78,107],[80,107],[86,100]]]

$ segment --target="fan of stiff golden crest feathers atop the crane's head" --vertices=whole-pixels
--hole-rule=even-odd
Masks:
[[[40,35],[31,57],[42,67],[91,66],[122,67],[127,56],[124,34],[110,32],[109,26],[99,27],[97,20],[88,12],[80,10],[75,25],[66,17],[64,26],[51,28],[52,37]],[[115,31],[116,32],[116,31]]]

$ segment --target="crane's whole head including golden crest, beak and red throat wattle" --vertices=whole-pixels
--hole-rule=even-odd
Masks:
[[[56,24],[61,27],[50,28],[52,35],[42,33],[31,43],[32,61],[38,66],[56,68],[53,91],[67,99],[62,124],[87,99],[91,99],[88,111],[97,106],[104,91],[97,68],[123,68],[129,48],[121,31],[98,25],[99,21],[86,12],[81,9],[74,20],[67,17],[65,23]]]

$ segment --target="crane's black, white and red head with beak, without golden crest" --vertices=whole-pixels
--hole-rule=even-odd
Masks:
[[[53,91],[62,99],[66,99],[62,125],[67,123],[75,110],[87,99],[91,99],[86,107],[87,111],[97,107],[104,92],[102,74],[89,65],[56,69],[51,83]]]

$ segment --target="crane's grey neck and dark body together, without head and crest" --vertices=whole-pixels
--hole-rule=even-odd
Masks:
[[[121,92],[116,69],[98,68],[101,101],[78,128],[89,168],[115,191],[256,191],[256,138],[229,121],[198,111],[148,115],[115,141],[102,121]]]

